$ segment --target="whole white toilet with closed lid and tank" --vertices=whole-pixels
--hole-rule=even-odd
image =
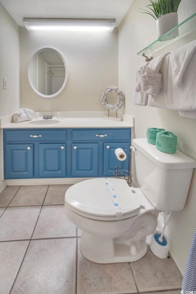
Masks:
[[[81,228],[81,253],[93,262],[142,258],[159,212],[185,205],[196,161],[179,151],[162,153],[146,139],[134,139],[132,145],[140,188],[124,179],[95,178],[66,191],[66,215]]]

